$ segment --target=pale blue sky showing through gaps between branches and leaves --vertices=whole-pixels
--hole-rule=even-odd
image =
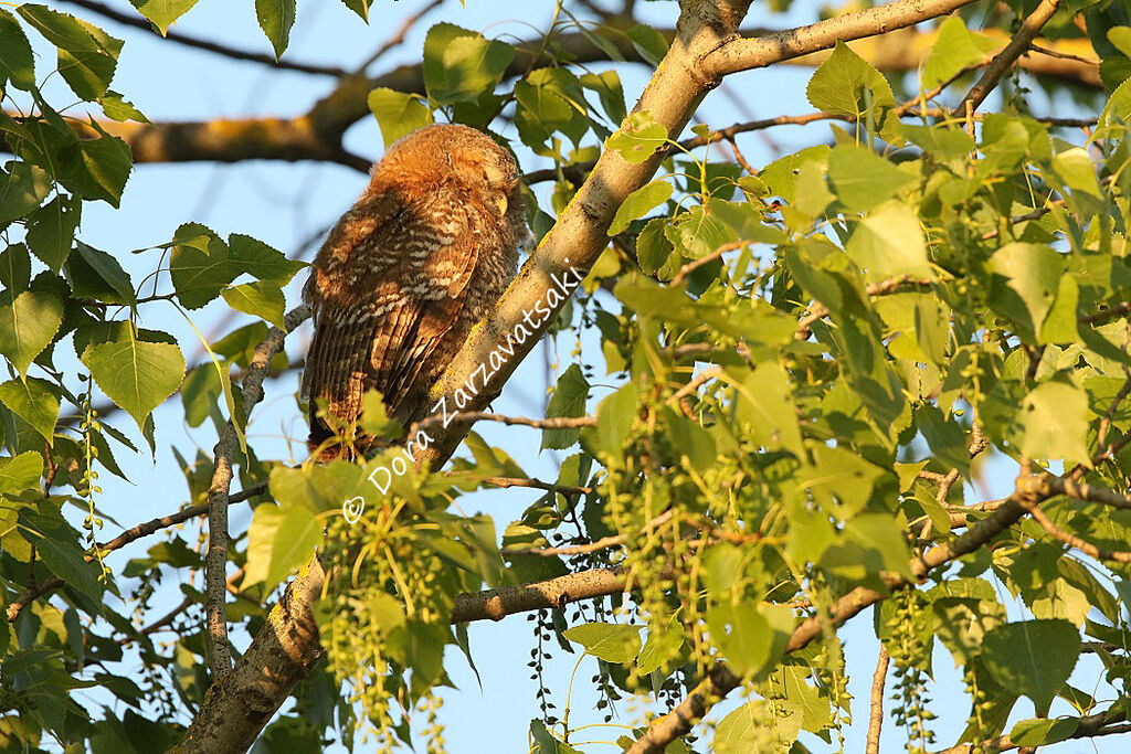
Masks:
[[[308,110],[333,86],[333,79],[325,76],[275,71],[254,63],[232,61],[105,21],[66,2],[51,5],[92,20],[127,41],[113,88],[126,94],[154,121],[297,114]],[[131,10],[124,0],[115,0],[111,5],[121,10]],[[423,5],[421,0],[374,0],[372,20],[366,26],[338,0],[301,0],[297,23],[285,59],[352,68],[385,42],[404,17]],[[677,14],[673,1],[639,5],[645,17],[656,25],[671,26]],[[813,3],[808,1],[796,2],[793,11],[784,17],[769,16],[760,8],[760,5],[757,6],[751,14],[750,25],[785,27],[809,23],[815,17]],[[371,72],[402,62],[417,62],[424,33],[430,24],[439,20],[483,31],[487,36],[508,38],[533,36],[533,29],[547,27],[552,15],[553,3],[550,0],[525,3],[466,0],[466,7],[461,7],[457,0],[448,0],[429,14],[407,36],[405,43],[386,55]],[[174,29],[239,49],[270,52],[270,45],[256,23],[251,0],[201,0]],[[40,52],[37,72],[42,79],[43,73],[53,66],[54,52],[42,44],[42,41],[36,43],[36,50]],[[639,66],[622,66],[620,71],[631,106],[646,83],[647,71]],[[754,118],[809,112],[812,107],[805,102],[804,89],[811,72],[806,68],[783,67],[782,70],[752,71],[732,77],[722,90],[708,97],[700,116],[710,124],[720,127]],[[49,101],[59,103],[70,98],[71,95],[66,93],[59,77],[53,77],[52,86],[49,87]],[[993,103],[988,106],[993,106]],[[1063,110],[1062,107],[1060,114],[1065,114]],[[756,133],[744,137],[741,145],[745,156],[758,166],[780,154],[826,138],[827,129],[827,125],[819,124],[804,129],[787,127],[768,136]],[[378,158],[381,145],[373,119],[364,119],[347,133],[347,148],[366,158]],[[525,170],[545,166],[529,153],[520,151],[519,155]],[[204,223],[222,235],[245,233],[284,252],[293,253],[312,233],[327,227],[348,207],[364,181],[365,177],[360,173],[326,164],[258,162],[239,165],[139,165],[127,185],[120,210],[102,203],[84,208],[80,237],[96,248],[114,253],[133,275],[135,280],[139,280],[152,269],[155,252],[140,255],[128,252],[167,242],[174,229],[185,222]],[[300,275],[288,288],[288,306],[297,303],[299,287],[304,277],[304,274]],[[189,362],[199,361],[201,349],[192,327],[170,304],[155,303],[148,306],[144,320],[146,326],[173,332]],[[192,319],[196,328],[210,338],[218,337],[235,324],[251,321],[242,314],[233,317],[223,302],[192,312]],[[304,326],[288,339],[287,350],[291,354],[303,352],[309,338],[308,328],[309,326]],[[588,340],[586,344],[593,345]],[[547,378],[552,383],[552,375],[569,364],[573,338],[564,336],[559,345],[556,352],[547,347],[532,354],[495,402],[498,411],[513,415],[537,415],[542,411]],[[68,349],[60,350],[67,353]],[[598,352],[590,349],[589,353]],[[302,460],[305,424],[293,399],[296,389],[297,379],[294,374],[267,385],[266,400],[256,409],[248,431],[249,440],[261,458],[285,459],[293,451],[295,460]],[[596,390],[594,399],[602,398],[605,392],[603,389]],[[121,452],[119,461],[133,484],[128,485],[109,474],[102,475],[103,494],[98,500],[100,505],[127,527],[174,511],[185,499],[185,486],[172,454],[173,447],[180,449],[183,456],[192,457],[198,448],[210,454],[215,443],[215,434],[207,425],[193,430],[183,424],[179,401],[175,399],[159,408],[156,418],[155,462],[146,453],[130,458]],[[118,426],[130,430],[128,419],[122,421],[121,415],[114,419]],[[491,444],[507,450],[530,476],[555,476],[559,458],[553,453],[536,452],[538,437],[535,431],[493,424],[480,427],[480,431]],[[288,437],[296,441],[296,444],[288,445]],[[972,497],[976,494],[978,499],[993,499],[1009,488],[1009,474],[1004,465],[992,463],[985,478],[986,488],[976,493],[967,491]],[[508,521],[517,518],[537,496],[535,491],[485,491],[463,500],[460,504],[468,513],[490,513],[501,531]],[[250,521],[250,509],[233,508],[231,519],[234,532],[245,530]],[[184,536],[191,543],[196,540],[196,532],[193,525]],[[116,531],[107,527],[102,538],[113,534]],[[111,566],[120,570],[127,558],[141,555],[155,541],[155,538],[144,539],[115,553],[110,560]],[[171,578],[182,577],[183,574],[178,573]],[[179,590],[169,578],[163,589],[169,592],[169,600],[179,599]],[[154,614],[159,615],[174,604],[175,601],[158,601]],[[849,752],[863,749],[867,693],[878,649],[871,626],[871,613],[867,613],[858,616],[844,632],[852,676],[849,691],[855,697],[853,712],[856,719],[856,723],[846,730],[846,751]],[[461,659],[452,656],[450,673],[459,690],[443,694],[446,703],[442,711],[442,722],[448,726],[449,749],[460,753],[525,751],[528,722],[538,716],[534,696],[536,686],[529,679],[529,669],[526,667],[529,650],[534,647],[530,624],[525,616],[512,616],[499,624],[474,625],[470,636],[472,647],[476,651],[482,691]],[[247,638],[238,636],[236,641],[245,642]],[[561,711],[575,660],[563,657],[563,652],[556,648],[553,655],[553,661],[547,664],[546,683],[553,690],[553,700]],[[961,687],[960,677],[944,651],[939,650],[934,667],[940,682],[939,691],[932,694],[940,713],[934,728],[940,734],[940,743],[949,745],[965,725],[968,702],[953,693]],[[571,700],[571,722],[599,721],[599,714],[593,711],[596,697],[588,683],[594,671],[595,665],[588,659],[578,670]],[[1083,681],[1095,678],[1096,675],[1078,674],[1078,678]],[[719,710],[725,712],[733,707],[734,703],[731,702],[719,705]],[[1031,709],[1026,709],[1027,702],[1019,704],[1019,708],[1024,710],[1020,717],[1031,714]],[[638,722],[640,709],[639,704],[628,700],[620,703],[619,719],[615,722]],[[711,714],[715,720],[718,717],[718,711]],[[605,729],[595,728],[585,734],[578,739],[613,740],[620,731],[606,733]],[[826,749],[826,745],[812,736],[803,734],[803,740],[813,751]],[[890,719],[886,721],[883,743],[889,751],[903,743],[903,731]],[[1077,748],[1069,747],[1065,751],[1116,751],[1105,748],[1106,746],[1117,747],[1117,744],[1097,740],[1095,746],[1081,743]],[[587,746],[585,751],[615,748]]]

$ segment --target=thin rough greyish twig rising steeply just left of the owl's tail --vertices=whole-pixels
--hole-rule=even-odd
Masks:
[[[254,356],[243,380],[243,416],[251,415],[264,398],[264,379],[270,371],[270,361],[286,333],[310,317],[305,305],[292,310],[283,320],[283,328],[273,327],[267,337],[256,347]],[[228,488],[232,485],[232,456],[236,447],[236,433],[228,419],[216,443],[216,470],[208,488],[208,549],[205,553],[205,625],[208,633],[209,661],[213,683],[232,670],[232,651],[227,643],[227,505]]]

